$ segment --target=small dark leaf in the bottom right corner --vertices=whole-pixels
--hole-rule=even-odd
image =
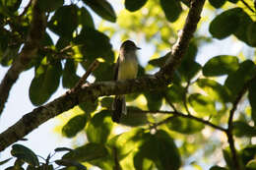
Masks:
[[[246,165],[250,160],[256,156],[256,144],[247,145],[240,151],[242,162]]]

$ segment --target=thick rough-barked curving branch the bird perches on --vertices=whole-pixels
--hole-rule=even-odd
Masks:
[[[103,95],[153,90],[168,85],[172,80],[175,68],[184,56],[188,43],[196,30],[204,2],[205,0],[192,0],[185,26],[172,48],[171,56],[169,56],[169,59],[160,69],[159,73],[135,80],[99,82],[93,85],[82,85],[81,88],[68,91],[54,101],[26,114],[15,125],[0,134],[0,150],[23,139],[45,121],[73,108],[80,102],[93,102],[97,97]]]

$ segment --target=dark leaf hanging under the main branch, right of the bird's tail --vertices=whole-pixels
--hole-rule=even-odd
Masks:
[[[160,110],[163,97],[162,91],[144,92],[144,95],[147,98],[147,106],[149,110]]]

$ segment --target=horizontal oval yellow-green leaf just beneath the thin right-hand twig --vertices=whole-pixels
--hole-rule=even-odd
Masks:
[[[205,126],[195,120],[187,118],[174,117],[171,119],[166,126],[172,130],[181,134],[195,134],[201,132]]]

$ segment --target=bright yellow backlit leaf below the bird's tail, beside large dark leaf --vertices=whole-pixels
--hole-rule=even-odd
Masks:
[[[118,157],[123,159],[131,151],[138,148],[139,144],[142,142],[144,130],[141,128],[134,128],[131,131],[122,133],[107,142],[112,148],[117,150]],[[125,146],[124,146],[125,145]]]

